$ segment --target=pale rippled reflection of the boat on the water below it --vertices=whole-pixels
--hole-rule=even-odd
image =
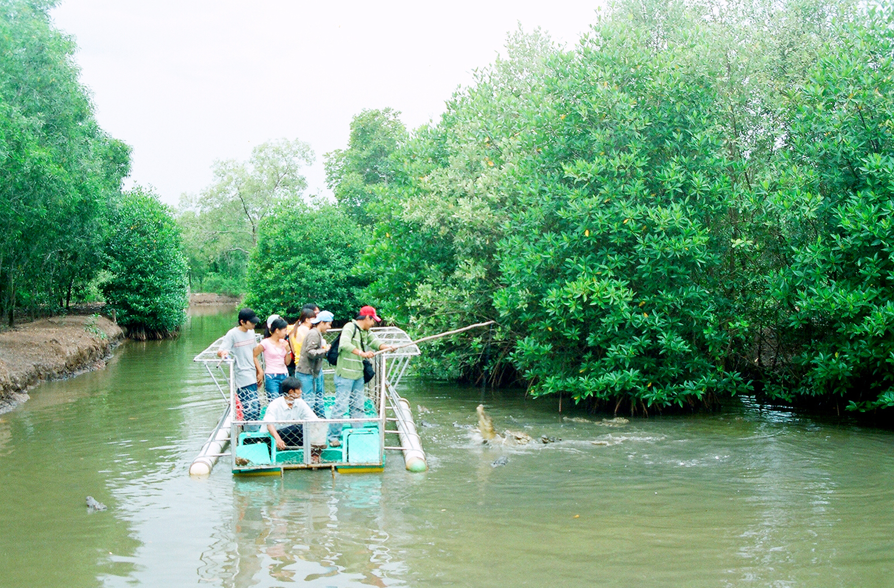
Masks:
[[[381,512],[382,478],[330,472],[235,480],[232,523],[203,559],[223,565],[200,569],[225,586],[278,582],[374,586],[393,569]],[[230,541],[228,541],[230,539]],[[235,540],[235,553],[230,553]],[[391,583],[393,585],[393,583]]]

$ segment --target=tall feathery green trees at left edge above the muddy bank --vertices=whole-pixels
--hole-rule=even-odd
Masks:
[[[0,304],[63,307],[101,267],[129,148],[97,127],[47,6],[0,2]]]

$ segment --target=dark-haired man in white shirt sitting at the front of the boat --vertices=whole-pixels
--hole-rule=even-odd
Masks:
[[[304,445],[304,425],[287,424],[283,421],[318,421],[319,416],[301,399],[301,382],[298,378],[288,377],[280,383],[280,397],[267,405],[264,422],[267,431],[274,438],[276,449],[286,446]],[[281,427],[281,428],[278,428]],[[325,447],[325,428],[320,425],[308,425],[313,462],[319,461],[320,451]],[[321,434],[322,433],[322,434]]]

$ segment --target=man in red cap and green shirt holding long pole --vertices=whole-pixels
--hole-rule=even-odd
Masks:
[[[357,317],[344,325],[338,344],[338,362],[335,364],[335,404],[333,418],[346,418],[350,407],[350,418],[363,418],[365,397],[363,394],[363,360],[375,356],[373,349],[389,351],[390,345],[383,345],[369,329],[382,319],[375,314],[375,308],[362,307]],[[329,425],[329,445],[342,444],[342,424]]]

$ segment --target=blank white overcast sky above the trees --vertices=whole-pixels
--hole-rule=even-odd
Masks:
[[[599,4],[63,0],[52,15],[78,43],[100,126],[133,148],[131,181],[175,205],[215,159],[282,137],[314,148],[308,193],[329,194],[323,154],[347,146],[353,115],[437,120],[519,22],[573,45]]]

